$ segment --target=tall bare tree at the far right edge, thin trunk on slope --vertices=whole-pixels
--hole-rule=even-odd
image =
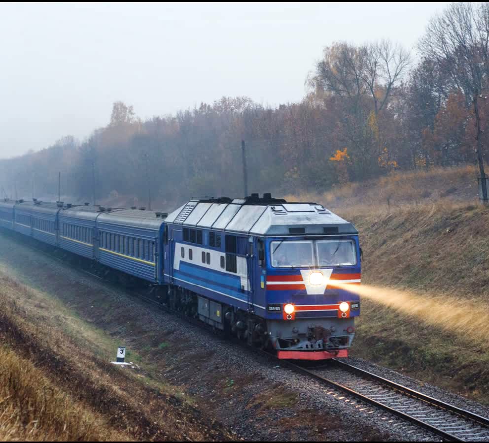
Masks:
[[[452,3],[430,20],[419,49],[450,76],[454,88],[463,91],[467,104],[472,105],[483,201],[488,202],[479,99],[487,94],[483,91],[489,77],[489,3]]]

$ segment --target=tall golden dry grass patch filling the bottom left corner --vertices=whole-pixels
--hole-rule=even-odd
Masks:
[[[128,440],[11,349],[0,348],[0,362],[1,441]]]

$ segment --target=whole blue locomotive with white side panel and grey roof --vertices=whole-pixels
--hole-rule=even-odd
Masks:
[[[346,356],[359,314],[358,232],[316,203],[192,199],[165,221],[170,297],[280,358]]]

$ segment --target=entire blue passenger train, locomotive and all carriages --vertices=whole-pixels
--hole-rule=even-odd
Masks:
[[[348,357],[358,231],[320,204],[254,193],[163,213],[3,199],[0,227],[144,282],[155,301],[280,359]]]

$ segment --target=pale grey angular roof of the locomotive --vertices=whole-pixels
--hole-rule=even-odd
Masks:
[[[317,203],[287,203],[256,197],[229,202],[192,199],[169,214],[166,221],[260,236],[358,233],[352,223]]]

